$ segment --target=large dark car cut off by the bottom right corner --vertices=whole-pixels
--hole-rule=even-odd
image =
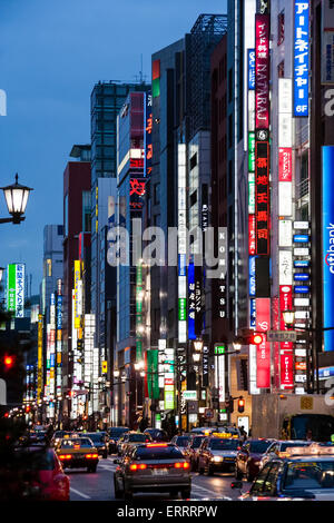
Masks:
[[[285,457],[268,461],[240,501],[334,501],[334,448],[312,444],[289,447]]]

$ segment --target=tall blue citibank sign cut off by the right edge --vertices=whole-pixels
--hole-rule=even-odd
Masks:
[[[323,160],[323,318],[334,327],[334,147],[322,148]],[[334,330],[324,332],[324,349],[334,351]]]

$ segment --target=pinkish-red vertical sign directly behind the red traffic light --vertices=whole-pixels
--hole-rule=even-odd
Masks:
[[[266,333],[271,328],[271,298],[256,299],[256,330]],[[256,386],[271,387],[271,344],[264,342],[256,348]]]

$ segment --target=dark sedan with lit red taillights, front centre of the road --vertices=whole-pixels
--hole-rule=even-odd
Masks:
[[[131,500],[137,492],[191,494],[190,464],[180,450],[171,443],[140,444],[122,460],[116,460],[114,473],[115,497]]]

